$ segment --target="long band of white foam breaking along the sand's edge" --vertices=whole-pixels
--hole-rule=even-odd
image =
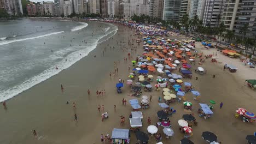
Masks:
[[[26,91],[27,89],[37,85],[38,83],[49,79],[51,76],[54,76],[54,75],[60,73],[62,70],[71,67],[71,65],[73,65],[75,62],[79,61],[80,59],[82,59],[85,56],[88,56],[88,54],[97,47],[97,44],[102,43],[103,41],[109,39],[115,33],[117,33],[117,31],[118,31],[118,27],[115,27],[115,29],[113,31],[110,31],[109,33],[100,37],[97,41],[95,41],[95,43],[93,43],[91,46],[89,46],[88,49],[82,49],[82,50],[75,51],[75,52],[69,54],[66,57],[67,59],[69,59],[67,62],[63,58],[61,62],[56,64],[59,68],[58,70],[55,69],[55,66],[51,67],[49,69],[44,70],[43,73],[33,76],[30,79],[22,82],[20,85],[10,88],[6,91],[0,92],[1,96],[2,96],[2,97],[0,97],[0,102],[10,99],[10,98],[13,98],[13,97],[15,97],[15,95],[18,95],[19,93]],[[111,35],[110,37],[108,37],[107,39],[105,39],[103,41],[100,41],[100,39],[106,37],[107,35],[109,35],[113,32],[114,32],[113,35]],[[80,55],[80,54],[82,54],[82,55]]]

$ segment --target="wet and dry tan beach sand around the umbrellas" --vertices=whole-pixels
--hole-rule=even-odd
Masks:
[[[94,22],[88,22],[89,25]],[[126,80],[129,78],[127,75],[131,72],[128,71],[128,65],[132,64],[131,60],[144,51],[142,44],[137,46],[137,53],[133,52],[133,59],[127,59],[124,62],[124,57],[127,57],[127,52],[120,49],[117,41],[125,41],[123,43],[126,47],[128,39],[136,39],[131,34],[135,31],[123,26],[119,26],[118,33],[112,38],[99,44],[97,48],[90,52],[88,56],[81,59],[72,67],[63,70],[61,73],[51,77],[50,79],[39,83],[38,85],[28,89],[25,92],[17,95],[15,98],[7,101],[7,111],[0,109],[0,143],[101,143],[100,135],[109,134],[113,128],[130,128],[129,115],[132,108],[129,100],[133,97],[127,96],[130,93],[130,87],[124,86],[123,93],[118,94],[115,89],[115,83],[118,79]],[[170,37],[170,39],[184,39],[184,37]],[[107,46],[109,44],[109,46]],[[123,47],[122,44],[122,47]],[[110,46],[115,49],[110,50]],[[107,47],[107,52],[102,56],[104,47]],[[196,49],[201,50],[201,44],[196,44]],[[216,49],[202,50],[203,53],[217,52]],[[129,50],[130,52],[130,50]],[[96,57],[94,57],[96,55]],[[228,57],[222,57],[218,53],[221,61],[238,61]],[[227,60],[228,59],[228,60]],[[240,72],[240,67],[237,73],[231,74],[227,70],[223,71],[223,64],[212,63],[208,59],[201,67],[207,70],[205,75],[193,73],[193,78],[183,79],[189,81],[195,86],[195,89],[201,93],[200,101],[193,100],[193,96],[186,94],[187,100],[193,103],[193,111],[185,112],[182,103],[170,104],[171,107],[177,110],[170,121],[174,136],[169,140],[165,139],[162,133],[162,127],[159,127],[159,132],[162,134],[163,143],[179,143],[183,139],[183,134],[179,131],[178,119],[183,119],[183,114],[192,113],[198,122],[197,127],[193,127],[193,136],[190,138],[194,143],[206,143],[202,139],[201,134],[203,131],[211,131],[218,135],[218,141],[222,143],[246,143],[246,135],[252,135],[255,123],[243,123],[240,119],[234,117],[235,110],[238,107],[244,107],[248,111],[255,113],[255,92],[245,85],[243,75],[245,73],[252,73],[255,76],[255,71]],[[114,61],[120,61],[118,64],[119,74],[113,77]],[[196,59],[199,62],[199,59]],[[233,63],[232,63],[233,64]],[[199,65],[192,65],[191,70],[199,67]],[[179,66],[180,67],[180,66]],[[178,67],[178,68],[179,68]],[[247,68],[248,69],[248,68]],[[112,71],[112,77],[109,73]],[[178,70],[174,70],[178,74]],[[213,79],[212,75],[216,75]],[[249,77],[248,79],[255,79]],[[156,75],[154,75],[154,78]],[[195,77],[199,77],[195,80]],[[246,77],[247,79],[247,77]],[[60,85],[63,85],[64,92],[61,92]],[[152,82],[155,84],[155,82]],[[91,95],[87,94],[90,89]],[[105,96],[96,96],[96,91],[106,89]],[[158,122],[156,112],[161,110],[158,105],[158,97],[161,96],[161,91],[152,93],[143,92],[142,95],[152,95],[152,103],[150,108],[142,110],[143,112],[143,127],[142,131],[147,133],[147,117],[152,119],[152,124]],[[127,104],[122,105],[122,99],[127,100]],[[200,103],[209,104],[209,100],[217,101],[214,105],[214,115],[209,119],[200,118],[196,110],[200,107]],[[66,104],[69,101],[69,104]],[[219,109],[220,102],[223,101],[223,108]],[[75,102],[78,116],[78,122],[74,122],[74,110],[72,103]],[[98,112],[97,105],[104,105],[104,111],[108,111],[109,118],[101,122],[101,113]],[[117,105],[117,110],[114,112],[114,105]],[[125,116],[124,126],[120,125],[120,116]],[[36,129],[39,139],[35,139],[32,135],[32,129]],[[4,137],[3,137],[4,135]],[[149,136],[149,143],[157,143],[154,137]],[[131,133],[131,143],[136,143],[135,134]]]

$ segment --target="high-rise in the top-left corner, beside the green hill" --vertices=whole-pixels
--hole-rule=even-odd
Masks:
[[[23,14],[21,0],[0,0],[0,3],[1,8],[5,9],[9,16]]]

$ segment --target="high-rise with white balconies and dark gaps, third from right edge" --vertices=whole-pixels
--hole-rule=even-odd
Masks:
[[[221,23],[225,0],[206,0],[203,14],[203,26],[218,27]]]

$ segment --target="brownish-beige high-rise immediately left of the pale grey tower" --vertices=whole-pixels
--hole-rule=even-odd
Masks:
[[[164,10],[164,0],[150,0],[148,15],[150,17],[158,17],[162,19],[162,13]]]

